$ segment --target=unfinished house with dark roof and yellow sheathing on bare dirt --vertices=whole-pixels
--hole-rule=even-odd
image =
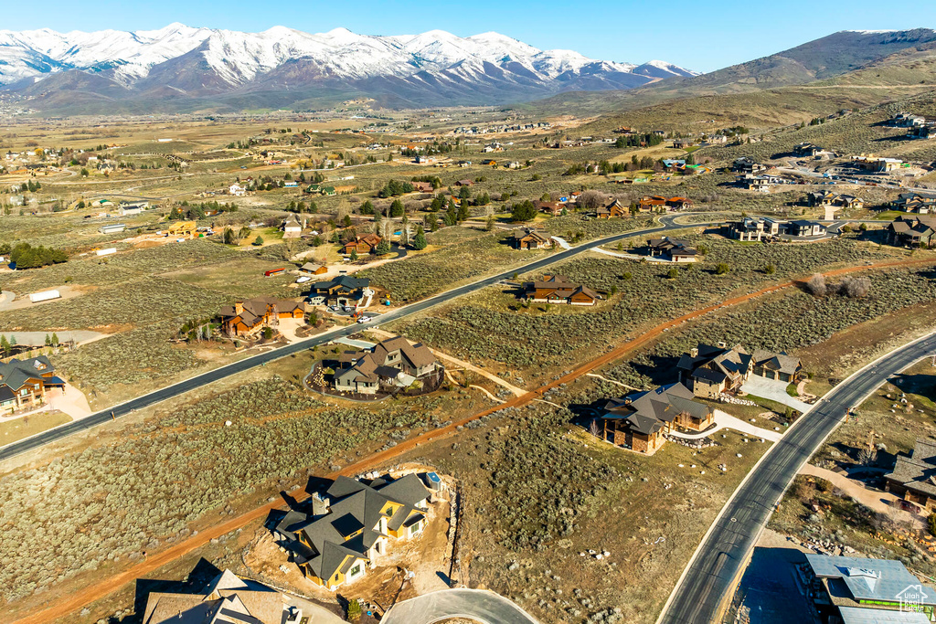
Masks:
[[[290,510],[277,524],[293,560],[315,585],[357,581],[395,542],[426,528],[430,491],[416,474],[373,480],[340,476],[312,497],[311,514]]]

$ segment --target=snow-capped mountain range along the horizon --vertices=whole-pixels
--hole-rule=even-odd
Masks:
[[[0,85],[47,102],[67,90],[85,104],[170,96],[217,102],[233,94],[252,94],[255,103],[264,93],[282,105],[329,91],[399,105],[503,103],[691,76],[662,61],[598,61],[498,33],[366,36],[284,26],[241,33],[180,23],[132,33],[0,31]]]

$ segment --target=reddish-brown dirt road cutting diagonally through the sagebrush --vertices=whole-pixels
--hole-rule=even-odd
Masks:
[[[899,261],[883,262],[883,263],[872,264],[872,265],[865,265],[861,267],[837,268],[831,271],[827,271],[825,275],[826,277],[835,277],[838,275],[844,275],[847,273],[854,273],[854,272],[870,270],[870,269],[911,267],[911,266],[920,266],[920,265],[927,265],[927,264],[934,264],[934,263],[936,263],[936,260],[931,259],[931,258],[922,259],[922,260],[899,260]],[[324,476],[326,476],[329,479],[337,478],[340,475],[353,477],[361,472],[367,472],[368,470],[372,470],[374,466],[379,466],[379,465],[388,463],[397,457],[401,457],[405,453],[408,453],[409,451],[416,448],[417,445],[428,444],[436,440],[439,440],[441,438],[445,438],[446,436],[455,433],[459,427],[462,427],[465,424],[473,420],[493,414],[495,412],[498,412],[508,407],[521,407],[523,405],[526,405],[527,403],[530,403],[531,401],[534,401],[536,399],[541,399],[542,396],[546,392],[548,392],[548,390],[559,387],[560,385],[563,385],[563,384],[569,384],[571,382],[574,382],[582,375],[592,372],[592,370],[599,369],[605,366],[606,364],[621,358],[622,356],[626,356],[630,354],[636,349],[659,338],[666,331],[674,329],[675,327],[679,327],[680,325],[688,321],[697,319],[699,317],[705,316],[706,314],[709,314],[711,312],[716,312],[724,308],[737,306],[739,304],[750,301],[756,297],[763,297],[765,295],[775,293],[779,290],[789,288],[793,286],[794,284],[795,283],[792,281],[778,283],[778,284],[768,286],[767,288],[763,288],[761,290],[758,290],[748,295],[732,297],[730,299],[726,299],[722,303],[716,303],[716,304],[707,306],[705,308],[702,308],[700,310],[696,310],[695,312],[688,312],[686,314],[683,314],[682,316],[678,318],[674,318],[661,325],[653,327],[646,333],[642,334],[641,336],[633,340],[623,342],[621,346],[616,347],[615,349],[611,349],[607,351],[607,353],[605,353],[604,355],[598,356],[592,359],[591,361],[578,366],[578,368],[576,368],[575,370],[572,370],[568,374],[563,375],[562,377],[556,379],[555,381],[548,383],[547,385],[542,385],[531,392],[527,392],[526,394],[523,394],[519,397],[509,399],[496,407],[492,407],[490,409],[484,410],[483,412],[480,412],[478,414],[474,414],[471,416],[466,416],[464,418],[461,418],[461,420],[455,421],[451,423],[450,425],[448,425],[447,427],[438,428],[438,429],[429,431],[427,433],[424,433],[422,435],[419,435],[416,438],[412,438],[405,442],[399,443],[396,446],[389,448],[386,451],[382,451],[380,453],[374,454],[371,457],[361,459],[357,463],[346,466],[344,469],[340,471],[331,472]],[[301,496],[297,496],[296,498],[301,501],[307,498],[307,496],[301,495]],[[228,532],[231,532],[233,530],[241,529],[245,525],[251,522],[254,522],[255,520],[259,520],[259,519],[266,517],[267,515],[270,514],[270,512],[273,509],[282,508],[283,506],[284,505],[282,502],[273,501],[271,503],[263,505],[262,507],[258,507],[250,512],[247,512],[246,514],[227,520],[227,522],[223,522],[210,529],[199,531],[196,536],[193,536],[184,542],[175,544],[171,548],[168,548],[166,550],[163,550],[162,552],[156,553],[148,557],[145,561],[138,563],[131,568],[128,568],[123,573],[119,573],[119,574],[112,576],[110,579],[102,583],[99,583],[95,587],[88,588],[85,591],[76,591],[72,593],[71,596],[63,600],[60,600],[56,602],[55,604],[42,609],[41,611],[37,611],[30,616],[22,617],[21,619],[18,619],[12,622],[11,624],[46,624],[48,622],[52,622],[55,619],[63,617],[66,614],[71,613],[73,611],[77,611],[80,608],[87,606],[88,604],[91,604],[92,602],[98,601],[108,596],[111,592],[116,591],[119,588],[122,588],[125,584],[131,583],[137,578],[145,577],[153,573],[155,570],[158,570],[159,568],[163,567],[164,565],[170,563],[171,561],[175,559],[188,555],[189,553],[196,550],[197,548],[200,548],[201,546],[204,546],[205,544],[209,544],[212,539],[221,537],[222,535]]]

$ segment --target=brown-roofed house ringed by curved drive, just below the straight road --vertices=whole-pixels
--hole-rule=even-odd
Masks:
[[[339,357],[333,384],[339,392],[374,395],[393,392],[442,370],[439,360],[422,343],[410,344],[398,336],[365,352],[345,352]]]

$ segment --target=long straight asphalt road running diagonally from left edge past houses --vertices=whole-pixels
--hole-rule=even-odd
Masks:
[[[387,312],[386,314],[380,314],[375,317],[370,323],[363,323],[358,325],[353,325],[350,327],[338,327],[332,329],[326,333],[319,334],[312,338],[308,338],[303,341],[297,341],[292,344],[279,347],[277,349],[268,351],[266,353],[258,354],[256,356],[245,357],[237,362],[232,364],[227,364],[219,369],[210,370],[208,372],[202,373],[191,379],[187,379],[178,384],[168,385],[165,388],[151,392],[150,394],[143,395],[137,399],[128,400],[125,403],[116,405],[108,410],[103,412],[98,412],[96,414],[91,414],[87,418],[82,418],[81,420],[74,421],[63,425],[62,427],[53,428],[37,435],[21,440],[20,442],[7,444],[3,448],[0,448],[0,461],[8,459],[10,457],[16,457],[22,455],[27,451],[31,451],[39,446],[44,446],[45,444],[54,442],[56,440],[61,440],[66,436],[69,436],[73,433],[78,433],[89,428],[93,428],[102,423],[106,423],[111,419],[119,418],[125,414],[130,414],[137,410],[149,407],[166,399],[172,399],[173,397],[178,397],[189,390],[194,390],[197,387],[202,385],[208,385],[212,382],[216,382],[220,379],[224,379],[231,375],[236,375],[243,372],[244,370],[250,370],[257,366],[263,366],[268,362],[279,359],[281,357],[290,356],[295,353],[300,353],[306,349],[311,349],[314,346],[325,344],[329,341],[332,341],[336,338],[342,336],[349,336],[351,334],[358,333],[362,329],[367,327],[374,327],[376,325],[383,325],[389,323],[390,321],[395,321],[403,317],[415,314],[417,312],[422,312],[428,310],[432,306],[438,305],[440,303],[445,303],[446,301],[451,301],[454,298],[467,295],[469,293],[474,293],[482,288],[486,288],[495,283],[501,282],[516,273],[528,273],[532,271],[539,270],[540,268],[546,268],[549,265],[555,264],[557,262],[562,262],[567,260],[574,255],[581,254],[588,251],[590,248],[597,245],[605,245],[612,242],[617,242],[618,240],[628,239],[639,236],[646,236],[648,234],[655,234],[659,232],[664,232],[667,230],[674,229],[683,229],[685,227],[693,227],[705,224],[692,224],[692,225],[676,225],[673,223],[675,216],[667,216],[661,219],[663,225],[658,225],[656,227],[650,227],[642,230],[633,230],[630,232],[623,232],[622,234],[616,234],[614,236],[606,237],[604,239],[592,240],[590,242],[578,245],[578,247],[573,247],[572,249],[565,250],[558,254],[550,254],[544,258],[531,262],[529,264],[523,265],[519,268],[512,268],[506,270],[503,273],[498,273],[497,275],[492,275],[488,278],[480,280],[475,283],[469,283],[458,288],[446,291],[439,295],[411,303],[407,306],[394,310],[392,312]]]

